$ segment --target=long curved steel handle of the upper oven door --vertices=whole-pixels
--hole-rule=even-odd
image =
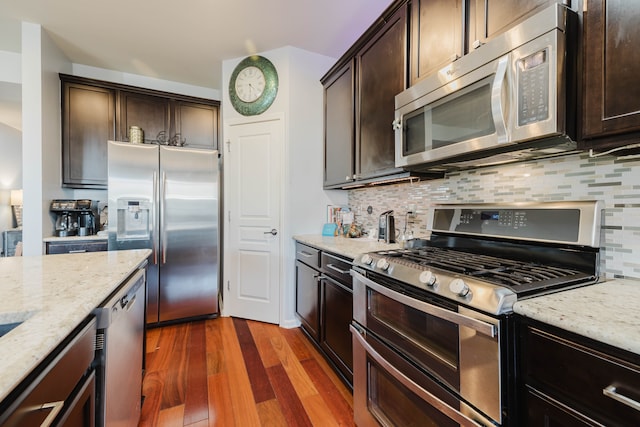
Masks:
[[[436,305],[428,304],[426,302],[417,300],[415,298],[402,295],[398,292],[392,291],[389,288],[386,288],[382,285],[377,284],[373,280],[363,276],[362,274],[358,273],[355,270],[351,270],[351,271],[352,271],[352,276],[354,277],[355,280],[359,280],[363,282],[368,288],[371,288],[374,291],[386,297],[389,297],[395,301],[398,301],[401,304],[408,305],[409,307],[413,307],[416,310],[422,311],[423,313],[430,314],[439,319],[447,320],[449,322],[455,323],[456,325],[471,328],[491,338],[496,337],[496,326],[492,325],[491,323],[483,322],[482,320],[464,316],[455,311],[446,310]]]

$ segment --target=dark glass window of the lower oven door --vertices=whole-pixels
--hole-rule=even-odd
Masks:
[[[382,425],[458,426],[378,366],[367,361],[368,410]]]

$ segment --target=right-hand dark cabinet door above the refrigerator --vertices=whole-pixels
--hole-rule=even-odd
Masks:
[[[186,101],[172,104],[175,132],[189,147],[218,148],[218,107]]]

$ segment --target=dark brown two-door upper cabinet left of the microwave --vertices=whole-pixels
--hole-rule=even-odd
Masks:
[[[395,168],[395,96],[406,88],[407,5],[379,20],[322,78],[324,187],[344,188]]]

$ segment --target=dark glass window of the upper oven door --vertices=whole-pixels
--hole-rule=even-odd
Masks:
[[[402,354],[458,389],[458,325],[368,291],[367,325]]]

